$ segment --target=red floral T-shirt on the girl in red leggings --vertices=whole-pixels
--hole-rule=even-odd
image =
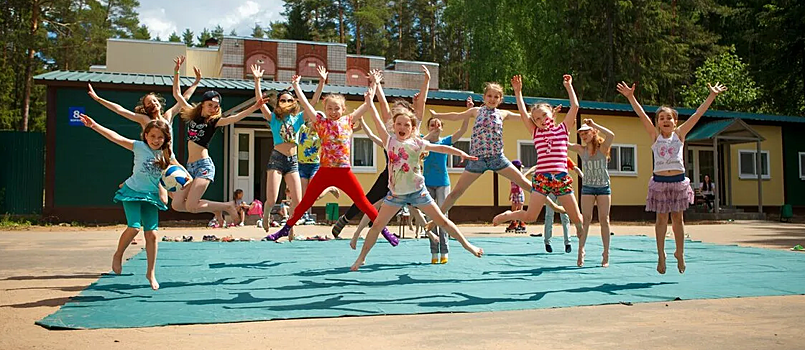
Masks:
[[[349,150],[352,146],[352,115],[331,120],[316,112],[313,125],[321,138],[321,166],[324,168],[350,168]]]

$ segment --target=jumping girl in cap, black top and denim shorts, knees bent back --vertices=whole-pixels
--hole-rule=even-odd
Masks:
[[[173,80],[173,97],[182,106],[182,119],[187,123],[187,171],[193,182],[176,192],[173,197],[173,209],[191,213],[213,213],[216,216],[215,227],[224,227],[221,212],[232,217],[232,224],[240,223],[238,208],[235,202],[214,202],[201,199],[207,186],[215,180],[215,164],[210,158],[207,147],[219,126],[234,124],[254,113],[265,104],[258,99],[251,107],[238,114],[221,117],[221,94],[210,90],[204,93],[201,103],[191,105],[179,93],[179,79]]]

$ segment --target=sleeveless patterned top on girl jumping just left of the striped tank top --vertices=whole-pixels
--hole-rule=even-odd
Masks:
[[[503,117],[499,109],[478,108],[469,153],[479,158],[503,154]]]

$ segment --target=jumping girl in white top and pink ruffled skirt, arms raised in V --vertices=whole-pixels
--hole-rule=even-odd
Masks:
[[[682,221],[682,212],[693,203],[693,189],[690,188],[690,179],[685,177],[685,162],[682,159],[685,136],[704,115],[716,96],[726,91],[727,88],[719,83],[716,83],[715,86],[707,84],[710,88],[710,95],[687,121],[677,126],[679,122],[677,111],[665,106],[657,109],[654,114],[654,123],[652,123],[634,97],[635,85],[632,84],[630,87],[625,82],[621,82],[618,84],[618,92],[629,100],[643,122],[643,127],[654,142],[651,146],[654,153],[654,175],[648,185],[646,211],[657,213],[657,221],[654,224],[657,253],[659,254],[657,272],[665,273],[665,232],[668,228],[670,214],[676,241],[674,257],[679,273],[684,273],[685,223]]]

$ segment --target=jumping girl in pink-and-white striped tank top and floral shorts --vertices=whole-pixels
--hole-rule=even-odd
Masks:
[[[548,195],[554,194],[558,198],[559,204],[567,211],[570,221],[576,226],[576,236],[581,237],[584,234],[581,229],[579,205],[576,203],[576,197],[573,196],[573,179],[567,173],[568,130],[573,129],[576,125],[579,101],[573,90],[573,78],[570,75],[565,75],[563,78],[570,100],[570,110],[559,124],[554,123],[554,115],[559,111],[558,107],[552,109],[547,103],[539,103],[534,105],[529,112],[523,100],[523,78],[519,75],[512,78],[520,119],[534,138],[537,166],[536,172],[531,178],[532,195],[528,210],[514,212],[507,210],[495,216],[492,220],[495,225],[511,220],[536,221]],[[584,264],[583,250],[579,250],[577,264],[579,266]]]

